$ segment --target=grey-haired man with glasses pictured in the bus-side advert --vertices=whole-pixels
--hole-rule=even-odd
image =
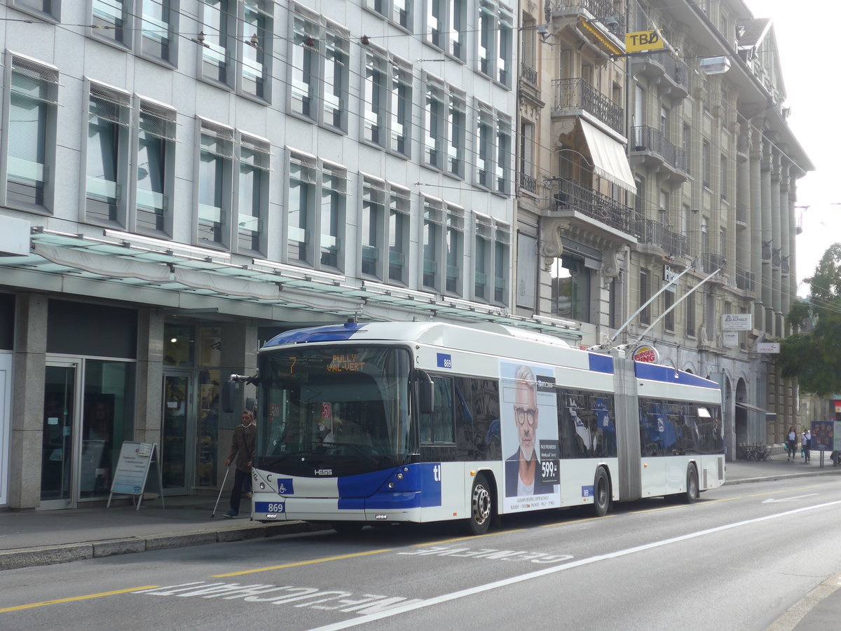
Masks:
[[[516,453],[505,460],[505,496],[524,497],[554,492],[553,483],[544,482],[537,457],[537,380],[528,366],[517,366],[514,375],[514,423],[520,443]]]

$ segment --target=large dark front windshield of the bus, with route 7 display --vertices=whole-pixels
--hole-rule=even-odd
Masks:
[[[405,458],[410,366],[409,352],[397,347],[262,353],[255,466],[294,474],[317,460],[373,470]]]

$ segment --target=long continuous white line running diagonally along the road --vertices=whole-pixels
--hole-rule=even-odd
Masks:
[[[643,552],[643,550],[650,550],[654,548],[661,548],[665,545],[669,544],[677,544],[681,541],[687,541],[689,539],[694,539],[697,537],[703,537],[707,534],[714,534],[714,533],[722,533],[725,530],[731,530],[732,528],[739,528],[741,526],[748,526],[750,524],[759,523],[759,522],[767,522],[771,519],[778,519],[780,517],[788,517],[789,515],[795,515],[798,512],[806,512],[806,511],[814,511],[818,508],[826,508],[828,506],[838,506],[841,504],[841,500],[838,501],[828,501],[824,504],[816,504],[815,506],[804,506],[802,508],[795,508],[791,511],[785,512],[778,512],[774,515],[766,515],[764,517],[755,517],[754,519],[746,519],[743,522],[733,522],[728,523],[723,526],[717,526],[716,528],[707,528],[706,530],[699,530],[696,533],[689,533],[680,535],[680,537],[673,537],[669,539],[663,539],[662,541],[655,541],[651,544],[643,544],[635,546],[634,548],[627,548],[624,550],[617,550],[616,552],[611,552],[608,554],[599,554],[597,556],[590,557],[589,559],[579,559],[577,561],[570,561],[569,563],[564,563],[563,565],[553,565],[552,567],[547,567],[542,570],[537,570],[534,572],[528,572],[527,574],[521,574],[519,576],[511,576],[507,579],[502,579],[501,581],[493,581],[491,583],[486,583],[484,585],[479,585],[475,587],[468,587],[465,590],[459,591],[452,591],[449,594],[442,594],[441,596],[436,596],[432,598],[426,598],[426,600],[422,600],[421,602],[414,602],[409,605],[405,605],[404,607],[395,607],[394,609],[389,610],[388,612],[381,612],[381,613],[373,613],[368,616],[362,616],[360,618],[352,618],[350,620],[345,620],[339,623],[332,623],[332,624],[325,624],[322,627],[310,629],[310,631],[339,631],[342,628],[351,628],[357,627],[360,624],[365,623],[372,623],[375,620],[381,620],[383,618],[390,618],[391,616],[396,616],[400,613],[415,611],[415,609],[422,609],[424,607],[431,607],[433,605],[438,605],[442,602],[450,602],[454,600],[458,600],[459,598],[464,598],[468,596],[473,596],[473,594],[479,594],[483,591],[490,591],[495,590],[499,587],[505,587],[509,585],[514,585],[515,583],[520,583],[522,581],[530,581],[535,578],[540,578],[541,576],[547,576],[551,574],[555,574],[557,572],[561,572],[563,570],[572,570],[576,567],[581,567],[582,565],[590,565],[592,563],[597,563],[599,561],[604,561],[606,559],[618,559],[623,556],[627,556],[628,554],[635,554],[637,552]]]

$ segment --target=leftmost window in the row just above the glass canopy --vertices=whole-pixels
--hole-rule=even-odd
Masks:
[[[59,73],[24,57],[9,59],[6,203],[52,209]]]

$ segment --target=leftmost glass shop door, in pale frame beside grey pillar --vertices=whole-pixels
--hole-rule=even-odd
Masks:
[[[74,508],[77,498],[78,363],[48,363],[41,438],[41,508]]]

